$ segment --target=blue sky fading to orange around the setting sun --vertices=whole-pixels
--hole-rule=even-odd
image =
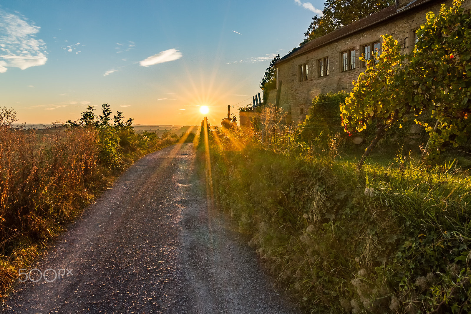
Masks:
[[[136,124],[219,124],[259,92],[323,2],[2,1],[0,106],[19,123],[108,103]],[[235,33],[235,32],[238,33]],[[240,34],[239,34],[240,33]],[[241,102],[237,104],[238,102]],[[235,110],[232,109],[232,110]]]

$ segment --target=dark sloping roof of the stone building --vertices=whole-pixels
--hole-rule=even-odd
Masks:
[[[403,15],[406,11],[409,11],[413,8],[416,8],[424,3],[430,2],[432,0],[414,0],[409,2],[406,6],[397,9],[396,6],[390,6],[388,8],[382,9],[379,12],[373,13],[372,15],[362,18],[356,22],[353,22],[349,25],[343,26],[333,32],[325,34],[324,36],[318,37],[312,41],[305,43],[299,48],[295,48],[293,51],[288,53],[283,58],[279,59],[275,63],[275,67],[283,63],[284,61],[290,60],[292,58],[298,57],[309,51],[316,50],[319,47],[322,47],[332,41],[341,39],[342,37],[349,36],[353,33],[359,32],[365,28],[371,27],[375,24],[379,24],[383,21],[398,17]]]

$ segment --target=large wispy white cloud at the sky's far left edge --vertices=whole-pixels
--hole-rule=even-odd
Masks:
[[[46,64],[46,44],[34,35],[40,28],[26,18],[0,9],[0,73],[7,72],[8,67],[24,70]]]

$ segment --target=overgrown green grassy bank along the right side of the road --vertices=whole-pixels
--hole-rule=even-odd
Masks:
[[[263,143],[254,130],[219,133],[208,180],[307,312],[470,311],[466,171],[398,151],[358,172],[355,160],[288,141],[298,131],[285,129]]]

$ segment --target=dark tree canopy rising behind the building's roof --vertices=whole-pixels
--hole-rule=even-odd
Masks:
[[[391,0],[326,0],[322,17],[313,17],[301,45],[394,4]]]

